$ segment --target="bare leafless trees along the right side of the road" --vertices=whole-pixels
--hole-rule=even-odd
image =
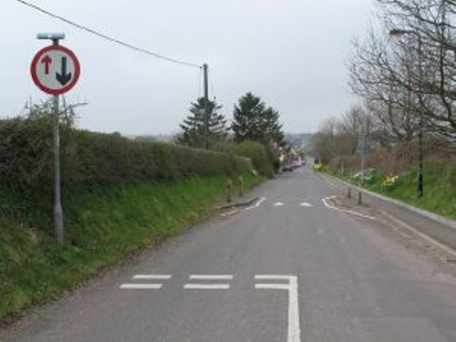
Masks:
[[[456,151],[454,0],[377,0],[377,20],[353,41],[349,88],[358,95],[327,119],[313,146],[324,161],[353,154],[359,134],[387,149]],[[415,156],[416,157],[416,156]]]

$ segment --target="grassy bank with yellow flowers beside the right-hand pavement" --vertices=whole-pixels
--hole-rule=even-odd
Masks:
[[[327,172],[358,185],[353,173]],[[417,170],[411,170],[399,175],[391,186],[386,186],[385,180],[389,175],[373,171],[371,181],[365,183],[364,188],[456,220],[456,165],[443,161],[425,163],[422,198],[417,196],[417,174]]]

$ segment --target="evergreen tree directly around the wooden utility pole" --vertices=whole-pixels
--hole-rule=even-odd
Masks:
[[[215,100],[207,101],[207,106],[205,98],[198,98],[196,102],[192,102],[191,114],[180,125],[182,134],[178,143],[198,149],[223,149],[228,128],[227,120],[220,114],[220,109],[222,106]]]

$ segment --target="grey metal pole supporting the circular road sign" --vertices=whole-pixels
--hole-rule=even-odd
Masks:
[[[58,39],[53,39],[54,45],[58,45]],[[54,226],[58,244],[64,244],[65,227],[63,225],[62,194],[60,182],[60,127],[59,127],[59,103],[58,95],[53,97],[54,119]]]

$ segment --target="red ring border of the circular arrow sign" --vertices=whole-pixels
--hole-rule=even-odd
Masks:
[[[53,51],[53,50],[62,51],[64,53],[66,53],[71,59],[73,59],[73,63],[75,65],[75,75],[73,76],[73,78],[71,78],[71,81],[67,84],[67,86],[65,86],[63,88],[58,88],[58,89],[47,88],[45,85],[43,85],[39,81],[39,78],[36,75],[36,68],[37,68],[37,65],[38,65],[41,57],[43,57],[43,55],[45,55],[47,52]],[[36,53],[35,57],[33,58],[32,64],[30,65],[30,74],[32,75],[32,79],[35,82],[36,87],[40,88],[45,93],[51,94],[51,95],[61,95],[61,94],[66,93],[71,88],[75,87],[76,83],[78,83],[78,78],[79,78],[80,72],[81,72],[81,67],[79,65],[78,57],[76,57],[75,53],[73,51],[71,51],[69,48],[62,47],[59,45],[51,45],[49,47],[44,47],[41,50],[39,50]]]

